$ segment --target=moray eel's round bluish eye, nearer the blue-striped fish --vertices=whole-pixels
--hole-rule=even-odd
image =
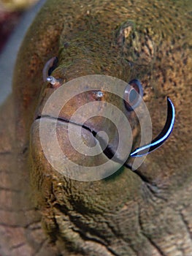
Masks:
[[[139,80],[134,79],[128,83],[124,92],[124,102],[128,111],[137,108],[142,100],[143,90]]]

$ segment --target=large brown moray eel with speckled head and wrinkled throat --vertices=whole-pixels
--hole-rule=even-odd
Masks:
[[[191,1],[172,0],[48,0],[42,7],[20,48],[13,84],[15,157],[11,158],[14,163],[9,183],[13,186],[18,181],[18,187],[14,187],[14,196],[6,195],[17,215],[7,223],[20,228],[18,232],[25,244],[23,255],[192,255],[191,11]],[[113,88],[122,88],[121,96],[107,92],[104,83],[103,89],[89,90],[90,83],[88,92],[72,97],[57,116],[55,106],[62,97],[66,99],[75,93],[74,82],[78,89],[83,86],[80,81],[92,75],[115,79],[120,86]],[[137,114],[139,121],[145,121],[146,116],[142,101],[130,111],[130,102],[127,105],[122,100],[125,91],[129,91],[129,98],[133,90],[126,90],[128,83],[136,83],[137,91],[142,84],[143,102],[153,124],[155,139],[141,145],[142,127]],[[59,100],[45,109],[48,99],[62,88],[65,90]],[[120,131],[126,138],[123,147],[131,136],[133,145],[129,152],[124,148],[116,156],[126,165],[110,176],[85,182],[69,178],[79,169],[57,161],[60,155],[54,150],[53,131],[56,129],[58,146],[69,159],[87,167],[90,176],[96,167],[94,173],[99,175],[103,169],[97,166],[112,157],[118,133],[112,122],[103,122],[99,116],[84,124],[83,114],[92,113],[94,108],[86,108],[69,122],[72,113],[88,99],[100,107],[105,100],[125,114],[131,132],[127,133],[128,127],[121,125]],[[100,110],[104,114],[104,109]],[[110,115],[114,118],[112,111]],[[1,120],[8,121],[5,117]],[[172,135],[166,140],[173,123]],[[40,129],[41,125],[45,129]],[[107,152],[93,157],[77,154],[70,147],[68,125],[74,140],[81,129],[82,141],[90,148],[98,145],[97,141],[101,148],[106,146],[107,140],[101,140],[104,134],[96,137],[104,129],[110,145]],[[143,133],[150,130],[150,122],[145,128]],[[1,130],[6,134],[4,138],[9,138],[8,129]],[[45,135],[45,145],[40,132]],[[164,146],[147,154],[139,165],[145,156],[135,156],[145,154],[146,148],[153,150],[164,140]],[[66,175],[50,164],[43,146],[50,160]]]

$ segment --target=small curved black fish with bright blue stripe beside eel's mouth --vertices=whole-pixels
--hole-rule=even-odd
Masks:
[[[167,118],[166,118],[166,124],[164,126],[164,129],[162,129],[161,133],[151,141],[151,143],[141,146],[139,148],[136,148],[131,154],[131,157],[143,157],[146,154],[150,153],[151,151],[155,150],[156,148],[160,147],[166,140],[169,138],[169,135],[172,132],[172,129],[174,127],[174,118],[175,118],[175,110],[174,105],[167,97]]]

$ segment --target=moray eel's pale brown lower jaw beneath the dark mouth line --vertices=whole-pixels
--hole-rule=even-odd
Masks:
[[[112,176],[126,162],[127,157],[118,157],[114,141],[105,140],[85,124],[61,116],[39,115],[31,126],[30,151],[34,162],[46,173],[96,181]]]

